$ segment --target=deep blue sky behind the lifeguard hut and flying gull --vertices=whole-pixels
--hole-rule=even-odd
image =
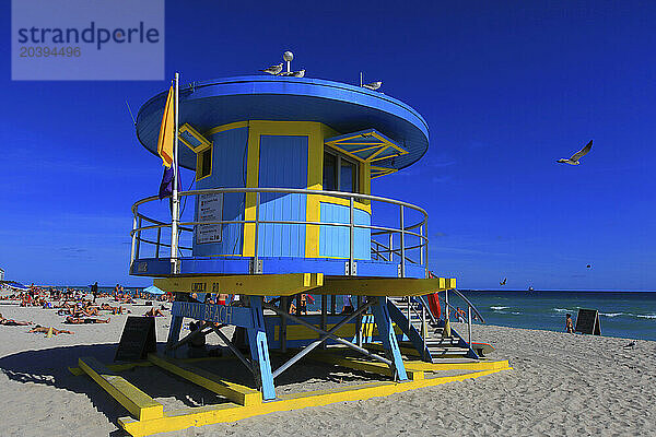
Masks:
[[[1,4],[0,267],[25,282],[148,284],[127,275],[130,205],[156,192],[161,164],[126,99],[136,113],[167,82],[12,82]],[[427,154],[373,193],[427,210],[440,275],[656,290],[655,3],[191,4],[166,3],[166,76],[250,74],[291,49],[309,78],[364,71],[423,115]],[[590,139],[583,165],[555,163]]]

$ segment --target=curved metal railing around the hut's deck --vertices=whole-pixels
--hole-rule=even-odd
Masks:
[[[245,209],[246,211],[249,208],[255,208],[255,218],[253,220],[220,220],[220,221],[179,221],[178,232],[179,233],[191,233],[194,235],[194,231],[196,226],[203,225],[229,225],[229,224],[239,224],[242,225],[242,238],[245,237],[244,229],[247,225],[254,226],[254,265],[258,264],[258,258],[260,256],[260,251],[258,248],[258,235],[260,233],[260,226],[266,224],[277,224],[277,225],[314,225],[314,226],[333,226],[333,227],[342,227],[349,229],[349,274],[353,274],[355,267],[355,229],[370,229],[371,232],[371,257],[373,260],[385,260],[385,261],[396,261],[399,262],[400,276],[406,275],[406,264],[413,263],[422,267],[427,265],[429,258],[429,238],[424,235],[424,231],[426,228],[427,223],[427,213],[413,204],[402,202],[399,200],[387,199],[378,196],[368,196],[368,194],[359,194],[352,192],[341,192],[341,191],[324,191],[324,190],[308,190],[308,189],[294,189],[294,188],[214,188],[214,189],[204,189],[204,190],[189,190],[189,191],[180,191],[178,196],[180,198],[185,197],[195,197],[195,196],[203,196],[203,194],[230,194],[237,193],[245,196]],[[306,220],[261,220],[260,218],[260,208],[261,208],[261,198],[262,193],[278,193],[278,194],[306,194],[306,196],[321,196],[328,197],[327,200],[321,199],[327,203],[330,203],[330,198],[336,199],[345,199],[349,205],[349,221],[348,223],[335,223],[335,222],[321,222],[321,221],[306,221]],[[250,196],[248,196],[250,194]],[[253,200],[255,197],[255,200]],[[161,247],[171,248],[171,243],[165,243],[163,240],[162,229],[171,228],[171,237],[165,238],[165,240],[173,241],[174,246],[171,253],[177,253],[177,257],[171,258],[173,265],[178,261],[178,259],[184,258],[185,255],[183,251],[191,251],[192,247],[177,245],[179,241],[179,234],[173,235],[172,222],[167,222],[166,220],[157,220],[150,216],[147,216],[144,213],[140,212],[140,206],[159,200],[156,196],[152,196],[145,199],[141,199],[137,201],[132,205],[132,231],[130,232],[130,236],[132,238],[132,246],[130,252],[130,265],[136,259],[139,259],[141,253],[141,244],[148,244],[155,247],[155,258],[160,258]],[[398,206],[398,226],[382,226],[373,224],[373,212],[371,215],[372,222],[368,225],[356,224],[355,223],[355,202],[361,203],[359,209],[362,209],[362,203],[368,203],[371,205],[372,202],[380,202],[388,205]],[[254,204],[251,204],[254,203]],[[266,202],[265,202],[266,203]],[[145,206],[144,206],[145,208]],[[413,212],[414,223],[410,225],[406,225],[409,221],[408,218],[408,210]],[[419,214],[419,215],[418,215]],[[303,212],[305,215],[305,212]],[[245,215],[244,215],[245,216]],[[154,237],[142,236],[142,233],[155,233]],[[395,246],[395,236],[397,236],[398,244]],[[386,240],[383,243],[380,239]],[[189,253],[191,255],[191,253]],[[220,255],[220,253],[216,253]],[[345,259],[345,258],[344,258]]]

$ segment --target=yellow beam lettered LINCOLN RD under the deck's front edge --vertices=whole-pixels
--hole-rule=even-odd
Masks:
[[[324,273],[175,276],[153,282],[165,292],[291,296],[324,285]]]

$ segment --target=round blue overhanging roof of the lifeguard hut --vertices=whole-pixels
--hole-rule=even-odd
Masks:
[[[156,155],[164,91],[137,115],[137,137]],[[400,169],[417,162],[429,147],[429,127],[421,115],[383,93],[320,79],[247,75],[194,82],[180,86],[179,122],[199,132],[235,121],[319,121],[340,133],[376,129],[409,153],[376,162]],[[196,154],[179,147],[179,164],[196,168]]]

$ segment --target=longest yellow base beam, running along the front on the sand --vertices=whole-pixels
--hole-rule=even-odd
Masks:
[[[191,426],[203,426],[218,423],[235,422],[274,412],[300,410],[307,406],[323,406],[337,402],[360,401],[377,397],[386,397],[424,387],[434,387],[442,383],[462,381],[495,374],[504,369],[483,370],[467,375],[420,379],[408,382],[367,382],[359,386],[341,387],[333,390],[317,390],[305,393],[281,394],[280,400],[262,402],[256,406],[241,406],[234,403],[215,406],[201,406],[164,413],[164,417],[152,421],[134,421],[131,417],[121,417],[118,424],[132,436],[148,436],[156,433],[166,433],[186,429]]]

